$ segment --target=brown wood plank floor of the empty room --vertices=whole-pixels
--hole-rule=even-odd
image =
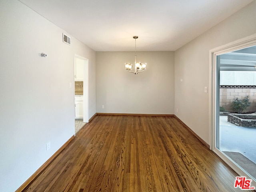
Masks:
[[[236,176],[174,117],[97,115],[23,191],[241,191]]]

